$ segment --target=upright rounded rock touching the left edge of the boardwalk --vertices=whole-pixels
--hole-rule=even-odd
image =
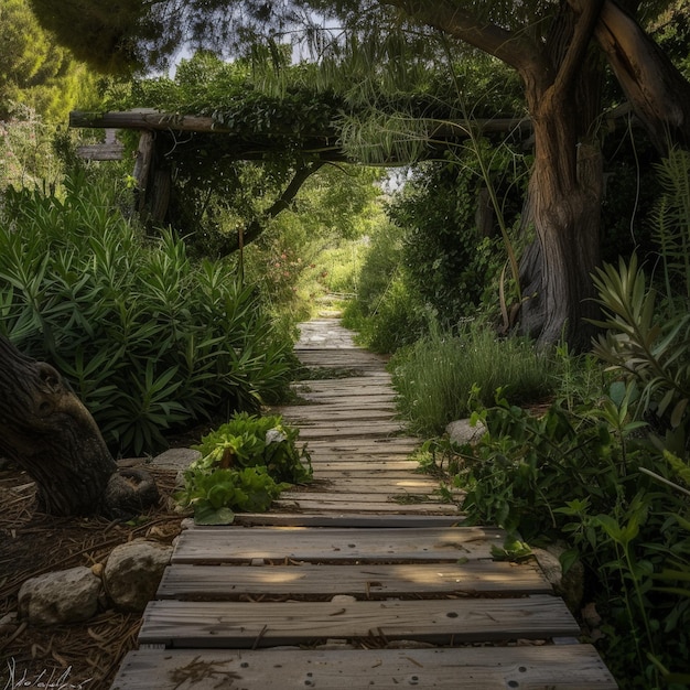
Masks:
[[[112,549],[103,572],[111,604],[119,611],[142,612],[155,597],[172,551],[172,547],[147,539]]]

